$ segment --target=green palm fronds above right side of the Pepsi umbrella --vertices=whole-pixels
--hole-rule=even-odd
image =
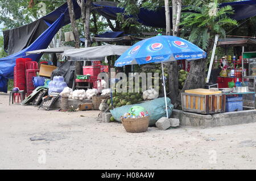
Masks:
[[[188,40],[205,50],[212,43],[214,35],[225,36],[227,28],[238,25],[236,20],[228,16],[233,14],[231,6],[219,9],[217,0],[207,4],[196,1],[195,5],[184,9],[187,12],[181,15],[180,26],[185,30],[183,36],[189,33]]]

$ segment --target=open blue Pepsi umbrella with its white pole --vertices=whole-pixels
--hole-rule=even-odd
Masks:
[[[181,39],[176,36],[154,36],[135,43],[123,53],[117,61],[115,66],[133,65],[133,64],[148,64],[148,63],[161,63],[162,76],[163,62],[176,61],[176,60],[196,60],[207,57],[207,53],[195,44]],[[164,97],[166,100],[166,86],[164,86]],[[167,100],[166,100],[166,115]]]

